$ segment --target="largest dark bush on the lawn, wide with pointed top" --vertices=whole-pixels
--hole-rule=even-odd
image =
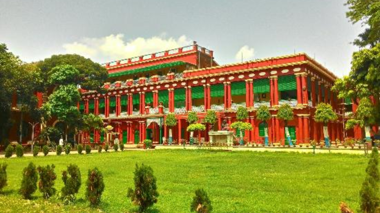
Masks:
[[[139,207],[139,212],[144,212],[147,208],[157,203],[158,191],[156,177],[153,175],[153,169],[150,166],[142,164],[140,167],[136,164],[135,190],[128,189],[127,197],[131,199],[134,205]]]

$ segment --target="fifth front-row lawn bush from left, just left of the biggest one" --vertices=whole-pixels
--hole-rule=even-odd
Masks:
[[[94,206],[100,203],[100,198],[103,191],[103,175],[98,170],[98,168],[95,167],[94,169],[89,170],[87,178],[86,198],[89,200],[91,205]]]

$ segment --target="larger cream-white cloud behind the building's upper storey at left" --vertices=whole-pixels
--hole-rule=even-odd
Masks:
[[[190,45],[185,36],[165,38],[165,34],[151,38],[125,39],[123,34],[111,34],[101,38],[83,38],[81,41],[63,44],[66,53],[76,53],[100,63],[145,55]]]

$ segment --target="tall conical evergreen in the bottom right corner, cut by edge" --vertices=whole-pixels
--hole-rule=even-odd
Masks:
[[[379,155],[375,147],[372,149],[368,166],[366,168],[367,177],[363,182],[360,190],[360,209],[364,213],[376,213],[380,208],[379,180],[378,170]]]

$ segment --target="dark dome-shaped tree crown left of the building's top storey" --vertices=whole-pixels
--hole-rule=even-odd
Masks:
[[[54,69],[57,66],[70,65],[78,70],[78,75],[73,77],[73,72],[62,72],[60,69]],[[45,74],[45,82],[49,83],[48,79],[52,79],[51,76],[56,75],[55,72],[66,73],[67,84],[76,85],[79,84],[83,89],[96,90],[99,91],[101,86],[103,86],[104,81],[108,78],[108,72],[105,67],[98,63],[94,63],[89,58],[84,58],[83,56],[76,54],[66,54],[66,55],[52,55],[50,58],[46,58],[44,61],[38,63],[38,67]],[[73,71],[72,69],[70,69]],[[70,78],[68,78],[70,76]],[[58,78],[56,78],[57,80]],[[56,82],[54,80],[54,82]],[[49,85],[46,85],[49,86]]]

